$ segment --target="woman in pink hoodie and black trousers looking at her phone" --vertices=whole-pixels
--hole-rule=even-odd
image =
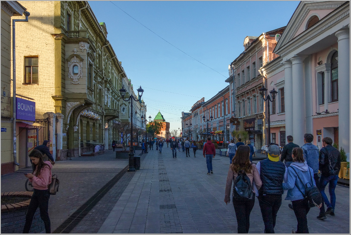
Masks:
[[[40,217],[44,221],[46,233],[51,233],[51,223],[48,213],[49,205],[49,189],[48,185],[51,183],[51,169],[52,165],[49,161],[43,161],[43,155],[39,150],[34,149],[30,154],[29,158],[35,165],[35,170],[33,174],[26,174],[25,176],[29,178],[34,188],[34,193],[32,195],[31,202],[28,206],[28,212],[26,215],[26,223],[24,225],[23,233],[29,233],[32,226],[33,217],[35,211],[40,209]]]

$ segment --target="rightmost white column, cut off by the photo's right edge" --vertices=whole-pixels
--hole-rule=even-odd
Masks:
[[[336,32],[338,37],[338,100],[339,100],[339,147],[343,147],[350,159],[350,29]]]

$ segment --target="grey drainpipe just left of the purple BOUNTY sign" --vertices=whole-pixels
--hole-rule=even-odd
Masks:
[[[23,14],[26,16],[25,20],[12,20],[12,67],[13,67],[13,95],[12,95],[12,110],[13,110],[13,164],[19,166],[17,162],[16,152],[16,34],[15,34],[15,22],[28,22],[29,12],[25,11]]]

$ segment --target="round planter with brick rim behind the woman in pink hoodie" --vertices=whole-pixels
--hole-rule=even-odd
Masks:
[[[1,193],[1,233],[22,233],[32,195],[33,192]],[[5,198],[9,201],[9,204],[3,203]],[[29,233],[41,233],[42,231],[45,232],[45,226],[40,218],[38,208],[35,211]]]

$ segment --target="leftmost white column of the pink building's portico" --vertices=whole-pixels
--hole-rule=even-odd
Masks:
[[[284,104],[285,104],[285,133],[292,136],[292,64],[287,60],[284,65]]]

